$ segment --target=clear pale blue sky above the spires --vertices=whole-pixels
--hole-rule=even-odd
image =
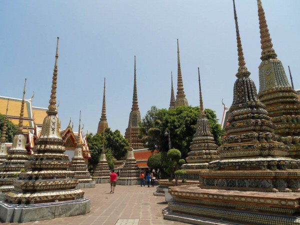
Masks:
[[[255,0],[236,0],[246,66],[257,90],[260,39]],[[273,48],[296,89],[300,88],[299,0],[262,0]],[[124,133],[133,91],[136,55],[141,116],[151,105],[167,108],[170,71],[176,87],[179,39],[188,103],[198,105],[197,67],[203,103],[221,120],[232,102],[237,51],[232,0],[3,0],[0,7],[0,95],[26,98],[47,107],[59,36],[57,100],[61,127],[69,117],[96,132],[106,77],[108,125]],[[288,77],[289,79],[289,77]]]

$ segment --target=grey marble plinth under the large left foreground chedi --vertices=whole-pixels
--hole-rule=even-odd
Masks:
[[[89,211],[90,200],[88,198],[27,205],[0,202],[0,219],[3,222],[38,221],[83,215]]]

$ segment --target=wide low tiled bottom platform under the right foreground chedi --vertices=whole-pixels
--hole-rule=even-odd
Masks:
[[[193,224],[209,224],[197,219],[216,224],[300,224],[300,194],[296,192],[230,191],[187,185],[170,187],[169,193],[173,200],[163,210],[166,219]]]

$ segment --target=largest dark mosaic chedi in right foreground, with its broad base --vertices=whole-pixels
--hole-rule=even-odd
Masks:
[[[257,3],[261,7],[260,0]],[[220,159],[200,171],[200,188],[169,189],[174,199],[164,218],[192,221],[192,215],[224,223],[299,224],[300,163],[287,157],[289,147],[273,132],[275,125],[257,98],[244,62],[234,0],[233,6],[239,67],[226,134],[217,149]]]

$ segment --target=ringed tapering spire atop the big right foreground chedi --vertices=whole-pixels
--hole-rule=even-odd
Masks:
[[[236,42],[237,42],[237,55],[238,55],[238,69],[236,76],[237,77],[243,77],[243,76],[249,76],[250,72],[248,72],[247,67],[245,66],[245,60],[243,56],[243,51],[241,47],[241,41],[239,36],[239,30],[238,30],[238,23],[237,23],[237,16],[236,16],[236,10],[235,10],[235,2],[233,1],[233,13],[234,13],[234,21],[235,21],[235,31],[236,31]]]

